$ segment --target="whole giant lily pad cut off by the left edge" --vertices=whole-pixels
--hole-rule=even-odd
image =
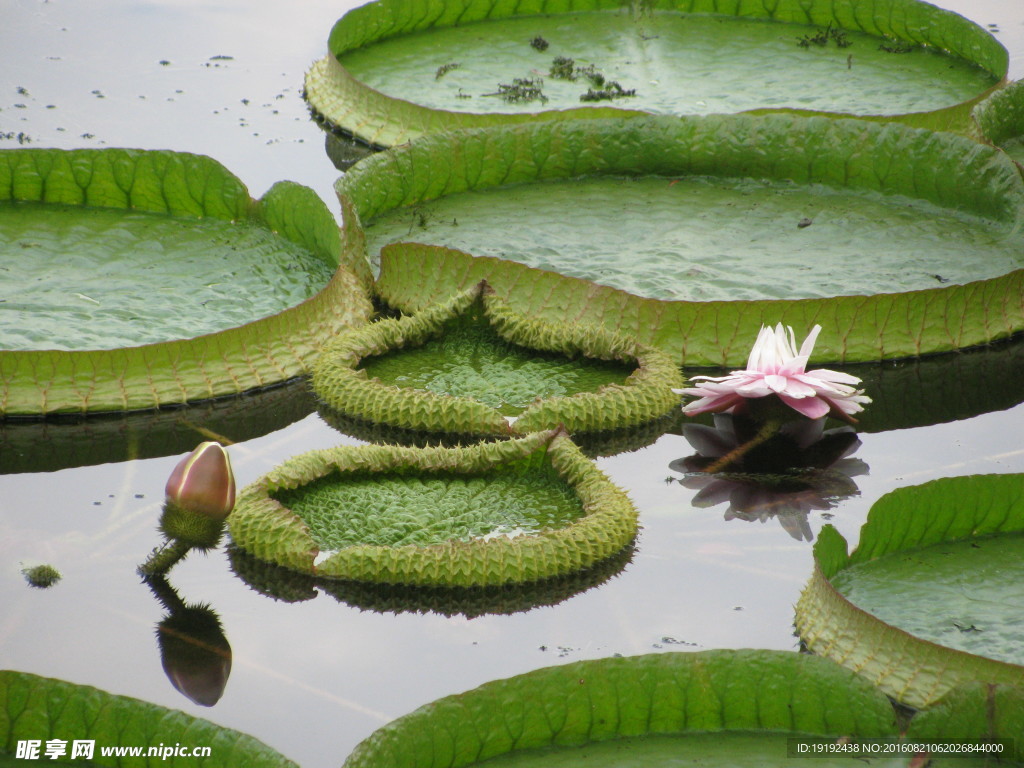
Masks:
[[[209,158],[0,152],[0,414],[131,411],[302,374],[370,303],[306,187]]]

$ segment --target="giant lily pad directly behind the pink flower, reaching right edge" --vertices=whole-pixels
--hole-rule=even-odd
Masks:
[[[603,324],[690,366],[741,365],[764,323],[820,324],[816,354],[848,362],[1024,329],[1024,183],[1004,154],[951,134],[567,121],[427,136],[337,189],[350,247],[381,253],[377,290],[403,311],[486,280],[523,314]]]

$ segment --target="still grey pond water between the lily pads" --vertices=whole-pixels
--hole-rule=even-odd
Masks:
[[[996,30],[1011,50],[1011,76],[1024,75],[1024,6],[940,4]],[[31,146],[197,152],[221,161],[253,197],[288,178],[337,210],[337,172],[300,92],[305,69],[324,54],[331,25],[348,6],[281,7],[8,0],[0,134],[11,137],[0,146],[16,146],[22,134]],[[888,490],[1024,471],[1021,343],[858,373],[888,384],[885,402],[868,392],[879,417],[877,427],[865,420],[855,454],[857,495],[811,509],[806,521],[749,521],[724,501],[694,506],[695,492],[669,466],[694,453],[678,419],[663,425],[664,434],[643,436],[643,447],[597,460],[640,510],[631,560],[616,574],[538,596],[532,609],[400,609],[388,595],[336,598],[323,590],[274,600],[234,575],[223,550],[188,558],[171,582],[186,602],[212,606],[233,652],[213,709],[168,682],[155,638],[164,611],[135,574],[158,544],[168,473],[211,436],[234,443],[243,484],[294,454],[359,440],[326,423],[302,384],[81,430],[0,425],[0,666],[181,709],[324,768],[422,703],[540,667],[615,653],[793,649],[793,604],[811,567],[807,540],[822,524],[856,541],[867,509]],[[30,589],[20,568],[36,563],[53,564],[63,580]]]

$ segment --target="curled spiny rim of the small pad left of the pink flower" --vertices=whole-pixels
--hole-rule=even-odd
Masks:
[[[497,409],[471,397],[388,385],[358,369],[366,357],[422,345],[445,322],[477,301],[492,328],[513,344],[573,357],[617,360],[635,365],[636,370],[623,385],[537,400],[510,424]],[[659,349],[600,326],[555,325],[518,314],[495,296],[486,282],[415,315],[378,321],[339,335],[325,347],[312,375],[312,387],[321,399],[349,417],[407,429],[503,436],[560,424],[573,433],[642,424],[677,407],[679,397],[672,389],[682,385],[679,368]]]

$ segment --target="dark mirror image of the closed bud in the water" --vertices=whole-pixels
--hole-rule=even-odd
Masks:
[[[231,672],[231,646],[217,614],[204,605],[174,610],[157,626],[167,678],[201,707],[220,700]]]

